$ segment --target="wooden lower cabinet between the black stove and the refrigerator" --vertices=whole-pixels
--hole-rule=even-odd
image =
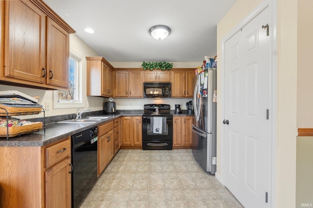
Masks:
[[[173,116],[173,149],[191,148],[194,116]]]

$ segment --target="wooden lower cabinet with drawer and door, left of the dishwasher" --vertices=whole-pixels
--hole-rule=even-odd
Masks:
[[[0,207],[70,208],[70,147],[70,137],[44,147],[0,147]]]

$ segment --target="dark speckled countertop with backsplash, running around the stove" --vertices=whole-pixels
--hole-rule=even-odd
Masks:
[[[108,119],[101,120],[96,123],[58,123],[58,121],[69,120],[75,117],[75,114],[58,115],[45,118],[45,129],[39,132],[33,132],[17,137],[0,137],[0,147],[31,147],[31,146],[45,146],[52,142],[66,138],[67,136],[75,133],[88,130],[92,127],[110,122],[118,117],[122,116],[141,116],[143,110],[121,110],[113,114],[103,113],[103,111],[84,113],[83,117],[86,116],[111,116]],[[188,113],[187,110],[183,110],[181,113],[175,113],[171,110],[174,116],[186,116],[194,115],[194,113]],[[42,121],[43,118],[33,119],[32,121]]]

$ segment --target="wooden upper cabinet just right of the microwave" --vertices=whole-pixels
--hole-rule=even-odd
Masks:
[[[195,75],[194,69],[172,71],[172,97],[193,97]]]

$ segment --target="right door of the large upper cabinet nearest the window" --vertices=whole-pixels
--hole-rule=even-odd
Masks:
[[[47,37],[46,83],[60,89],[68,89],[69,34],[50,18]]]

